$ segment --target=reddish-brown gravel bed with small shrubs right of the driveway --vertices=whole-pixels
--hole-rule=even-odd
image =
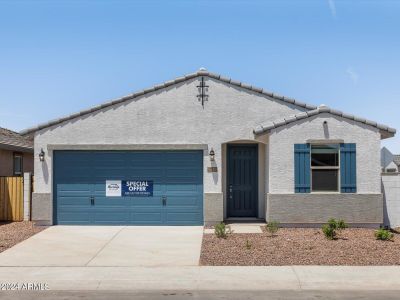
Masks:
[[[248,241],[248,242],[247,242]],[[246,245],[247,244],[247,245]],[[231,234],[219,239],[204,234],[201,265],[400,265],[400,235],[378,241],[372,229],[346,229],[327,240],[320,229],[281,228],[268,233]]]

